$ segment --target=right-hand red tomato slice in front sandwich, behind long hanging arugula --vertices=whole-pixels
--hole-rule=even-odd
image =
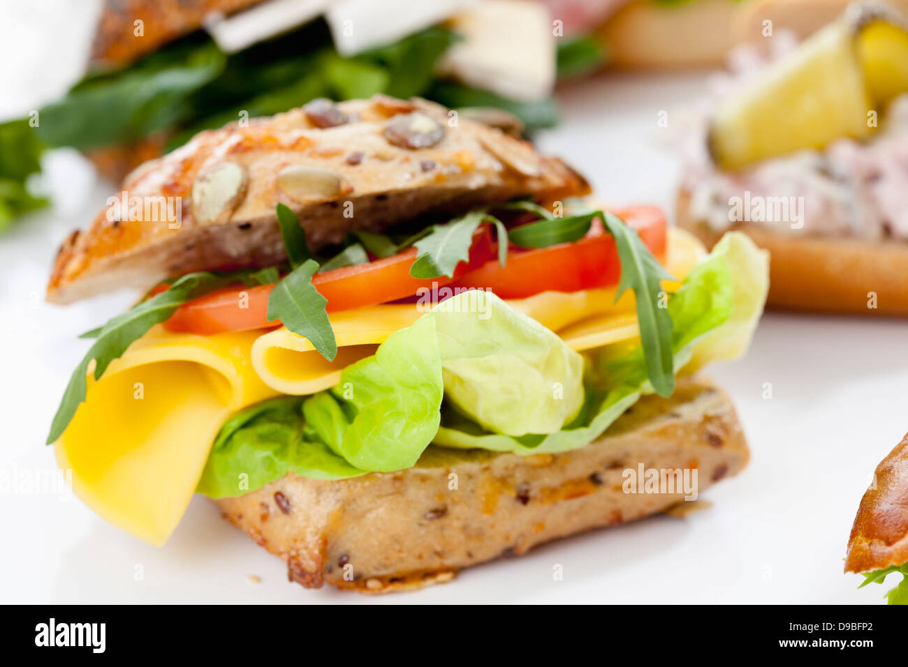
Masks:
[[[656,259],[666,253],[666,217],[656,206],[637,206],[613,211],[636,230]],[[548,248],[508,249],[508,263],[489,260],[481,269],[470,271],[452,287],[485,288],[502,299],[525,299],[544,291],[576,292],[616,285],[621,277],[615,240],[599,220],[587,236],[573,243]]]

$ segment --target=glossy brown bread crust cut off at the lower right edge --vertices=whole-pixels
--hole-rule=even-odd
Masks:
[[[908,563],[908,436],[873,473],[848,538],[845,572]]]

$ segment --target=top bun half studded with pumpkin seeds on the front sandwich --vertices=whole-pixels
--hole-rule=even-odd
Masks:
[[[64,242],[48,300],[281,261],[278,203],[300,216],[318,250],[354,229],[589,191],[577,172],[528,142],[435,103],[377,95],[312,104],[201,132],[138,167],[91,227]],[[179,220],[169,215],[175,203]]]

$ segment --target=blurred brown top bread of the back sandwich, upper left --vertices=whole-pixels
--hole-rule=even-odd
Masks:
[[[130,64],[202,27],[212,12],[230,15],[262,0],[104,0],[94,33],[92,67]],[[136,33],[142,21],[142,34]]]

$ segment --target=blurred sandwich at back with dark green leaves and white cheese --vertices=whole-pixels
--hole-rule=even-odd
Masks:
[[[47,148],[78,149],[120,182],[204,129],[374,93],[531,132],[557,122],[558,75],[601,56],[583,35],[557,39],[546,7],[521,0],[105,0],[84,78],[0,124],[0,178],[16,186],[0,188],[0,226],[46,203],[27,177]]]

